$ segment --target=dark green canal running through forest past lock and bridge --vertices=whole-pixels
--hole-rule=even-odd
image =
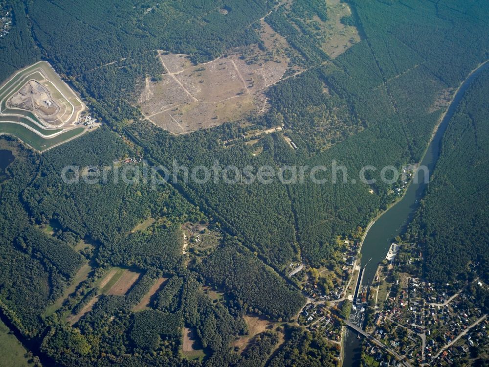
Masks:
[[[459,90],[456,92],[448,110],[438,127],[433,139],[428,145],[428,149],[421,161],[421,166],[428,167],[428,172],[431,175],[435,167],[436,161],[440,156],[440,143],[445,133],[446,127],[451,117],[455,113],[458,104],[462,100],[470,83],[484,69],[489,68],[489,62],[482,64],[478,69],[475,69],[467,79],[462,83]],[[419,174],[419,177],[418,177]],[[418,180],[416,180],[418,178]],[[422,198],[426,189],[427,183],[424,180],[424,171],[420,170],[414,175],[414,179],[409,184],[404,197],[394,206],[389,208],[374,225],[369,229],[361,248],[362,261],[366,263],[372,259],[365,267],[363,275],[363,284],[373,280],[377,271],[378,264],[385,258],[387,251],[394,238],[403,233],[408,223],[412,220],[416,209],[419,205],[419,200]],[[348,331],[347,338],[344,343],[345,359],[344,367],[360,366],[361,343],[356,339],[356,333]]]

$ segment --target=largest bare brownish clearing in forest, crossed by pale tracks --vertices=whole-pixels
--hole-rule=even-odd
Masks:
[[[265,113],[265,91],[287,70],[290,47],[267,23],[262,27],[265,49],[237,47],[207,63],[192,65],[188,55],[159,51],[167,73],[157,81],[146,78],[138,100],[143,115],[173,134],[185,134]]]

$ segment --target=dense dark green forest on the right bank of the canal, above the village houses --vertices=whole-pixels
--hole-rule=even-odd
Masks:
[[[488,92],[485,70],[449,122],[427,194],[406,234],[424,245],[424,274],[434,282],[466,279],[469,264],[489,279]]]

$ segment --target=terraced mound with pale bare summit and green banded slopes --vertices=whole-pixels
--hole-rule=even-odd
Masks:
[[[87,129],[77,126],[85,104],[45,61],[18,71],[0,87],[0,134],[45,151]]]

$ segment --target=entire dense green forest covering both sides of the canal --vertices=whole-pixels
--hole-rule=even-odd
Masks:
[[[361,42],[330,59],[305,22],[328,18],[316,0],[288,8],[267,0],[12,2],[0,80],[47,60],[107,125],[43,155],[0,138],[16,157],[0,184],[0,308],[22,335],[64,366],[337,364],[333,344],[292,326],[306,300],[284,279],[290,262],[341,262],[338,236],[357,235],[395,198],[393,184],[351,179],[365,165],[419,161],[446,96],[489,49],[487,2],[349,4],[352,16],[344,22],[358,27]],[[164,72],[156,50],[209,61],[259,43],[253,24],[262,18],[301,56],[292,60],[300,73],[267,90],[263,115],[181,136],[142,120],[134,107],[142,82]],[[467,92],[447,130],[409,232],[425,245],[424,271],[433,281],[463,277],[469,262],[487,264],[488,208],[478,193],[487,189],[488,79],[486,73]],[[246,129],[282,123],[297,149],[283,133],[223,148]],[[332,173],[322,172],[320,185],[117,181],[117,168],[127,164],[121,160],[137,156],[150,166],[172,167],[175,159],[190,168],[335,161],[349,177],[332,184]],[[68,165],[86,173],[89,166],[111,168],[96,184],[65,184],[60,172]],[[378,171],[369,178],[378,179]],[[182,225],[189,222],[210,223],[220,235],[215,248],[184,254]],[[113,269],[135,274],[134,284],[108,292]],[[240,350],[235,343],[248,335],[249,315],[273,326]],[[190,332],[198,340],[195,358],[184,351]]]

